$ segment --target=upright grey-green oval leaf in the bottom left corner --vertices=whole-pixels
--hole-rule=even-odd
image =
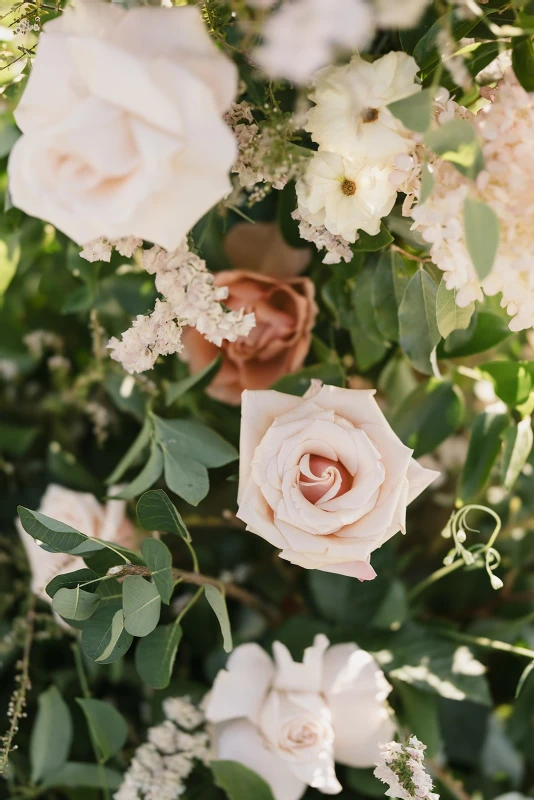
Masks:
[[[72,741],[72,721],[67,704],[55,686],[39,695],[39,709],[30,739],[33,783],[61,769]]]

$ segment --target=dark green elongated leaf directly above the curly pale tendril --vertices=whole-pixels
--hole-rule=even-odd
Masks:
[[[486,487],[501,452],[501,434],[509,422],[508,414],[491,411],[485,411],[476,417],[458,488],[458,497],[462,503],[470,503]]]

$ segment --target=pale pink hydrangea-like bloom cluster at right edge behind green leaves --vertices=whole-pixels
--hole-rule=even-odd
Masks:
[[[483,90],[491,100],[476,116],[464,114],[481,141],[485,167],[472,182],[439,159],[433,164],[434,188],[412,210],[413,228],[431,245],[433,262],[445,273],[456,302],[502,293],[501,305],[513,317],[510,329],[534,327],[534,96],[508,70],[497,90]],[[467,250],[463,206],[467,196],[495,211],[500,241],[491,273],[480,281]]]

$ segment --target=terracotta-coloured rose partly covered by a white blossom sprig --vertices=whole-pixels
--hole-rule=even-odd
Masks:
[[[218,272],[215,283],[228,286],[225,304],[230,309],[254,312],[256,327],[247,337],[224,341],[220,348],[187,328],[182,338],[183,356],[194,374],[222,352],[222,367],[207,392],[217,400],[239,405],[243,389],[266,389],[304,363],[317,316],[315,289],[309,278],[279,281],[243,270]]]

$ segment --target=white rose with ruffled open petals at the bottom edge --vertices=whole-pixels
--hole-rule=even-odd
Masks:
[[[355,644],[315,637],[302,663],[281,642],[273,660],[257,644],[236,648],[206,702],[216,757],[239,761],[270,784],[275,800],[307,786],[337,794],[334,761],[370,767],[392,738],[391,690],[373,657]]]

